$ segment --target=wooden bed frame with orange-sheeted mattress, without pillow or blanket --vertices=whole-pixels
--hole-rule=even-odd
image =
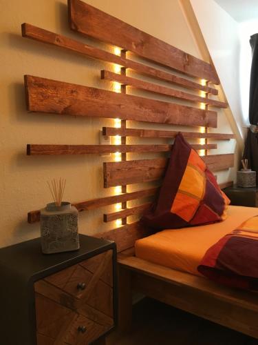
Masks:
[[[255,208],[229,206],[228,219],[222,223],[197,226],[194,231],[164,230],[138,239],[136,255],[133,248],[131,253],[128,250],[121,253],[118,262],[124,284],[120,298],[123,295],[125,299],[120,302],[124,308],[120,311],[121,327],[128,328],[131,315],[128,300],[132,291],[136,291],[258,338],[258,293],[215,284],[197,272],[209,246],[255,215]]]

